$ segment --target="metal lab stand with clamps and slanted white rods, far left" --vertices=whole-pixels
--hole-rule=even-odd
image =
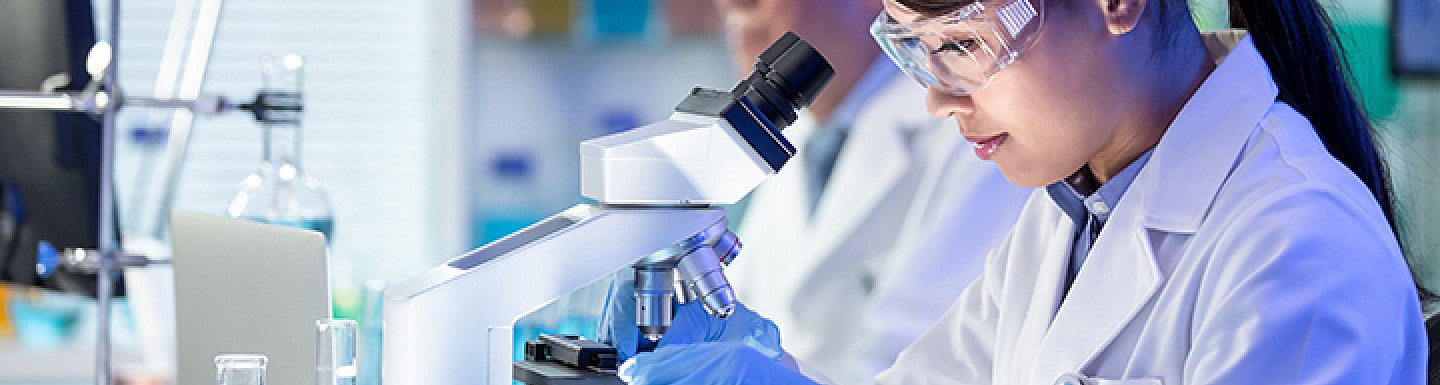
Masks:
[[[170,22],[170,39],[166,42],[161,55],[160,74],[154,97],[124,95],[118,89],[118,58],[120,55],[120,0],[109,0],[109,30],[108,50],[102,45],[92,49],[92,61],[104,62],[104,88],[94,82],[79,92],[40,92],[40,91],[0,91],[0,110],[48,110],[48,111],[79,111],[99,114],[101,130],[101,166],[99,166],[99,205],[98,205],[98,242],[96,249],[66,249],[59,255],[59,264],[86,273],[96,273],[96,301],[98,301],[98,330],[95,348],[95,384],[111,385],[109,368],[109,301],[114,275],[118,268],[145,267],[170,264],[168,260],[150,260],[145,255],[127,255],[121,252],[117,221],[115,221],[115,115],[124,107],[148,107],[173,110],[170,120],[170,141],[164,157],[164,176],[160,193],[161,202],[156,211],[156,224],[161,224],[167,208],[173,203],[173,195],[190,144],[190,128],[194,115],[217,115],[236,110],[246,110],[255,117],[264,118],[268,110],[300,110],[300,105],[268,105],[262,97],[255,102],[236,104],[225,97],[200,95],[200,85],[204,81],[210,49],[215,45],[215,30],[220,19],[223,0],[176,0],[176,13]],[[193,26],[193,29],[190,29]],[[187,30],[189,42],[183,42]],[[189,48],[189,55],[181,55]],[[102,55],[107,55],[104,58]],[[176,82],[179,78],[179,82]],[[143,229],[160,232],[163,226],[154,225]],[[156,235],[156,234],[145,234]]]

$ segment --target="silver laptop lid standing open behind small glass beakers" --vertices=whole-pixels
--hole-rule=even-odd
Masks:
[[[176,384],[215,384],[215,356],[269,358],[268,384],[315,382],[315,320],[330,319],[325,236],[171,212]]]

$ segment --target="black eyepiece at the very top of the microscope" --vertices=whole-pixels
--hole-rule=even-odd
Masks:
[[[835,69],[825,56],[793,32],[785,32],[756,58],[755,72],[732,94],[749,98],[776,128],[783,130],[795,123],[795,111],[814,102],[834,76]]]

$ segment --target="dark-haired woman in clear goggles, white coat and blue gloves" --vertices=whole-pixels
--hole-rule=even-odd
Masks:
[[[1323,9],[1231,9],[1246,30],[1201,35],[1184,0],[886,0],[930,112],[1045,189],[877,382],[1424,384],[1424,290]],[[773,356],[675,345],[622,375],[806,381]]]

